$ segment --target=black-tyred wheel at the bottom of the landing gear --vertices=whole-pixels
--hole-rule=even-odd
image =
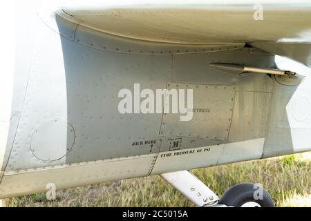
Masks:
[[[234,207],[274,207],[270,194],[265,189],[258,189],[258,186],[252,183],[233,186],[223,195],[219,204]]]

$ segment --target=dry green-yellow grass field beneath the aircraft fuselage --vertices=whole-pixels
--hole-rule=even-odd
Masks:
[[[196,169],[192,172],[218,195],[241,182],[262,184],[276,206],[311,206],[311,152]],[[4,200],[6,206],[194,206],[158,176],[122,180]]]

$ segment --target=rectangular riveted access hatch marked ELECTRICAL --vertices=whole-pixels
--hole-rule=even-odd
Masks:
[[[191,121],[186,122],[180,121],[180,114],[164,113],[161,135],[227,140],[235,86],[169,82],[167,88],[193,90],[194,106],[192,110],[188,110],[193,117]]]

